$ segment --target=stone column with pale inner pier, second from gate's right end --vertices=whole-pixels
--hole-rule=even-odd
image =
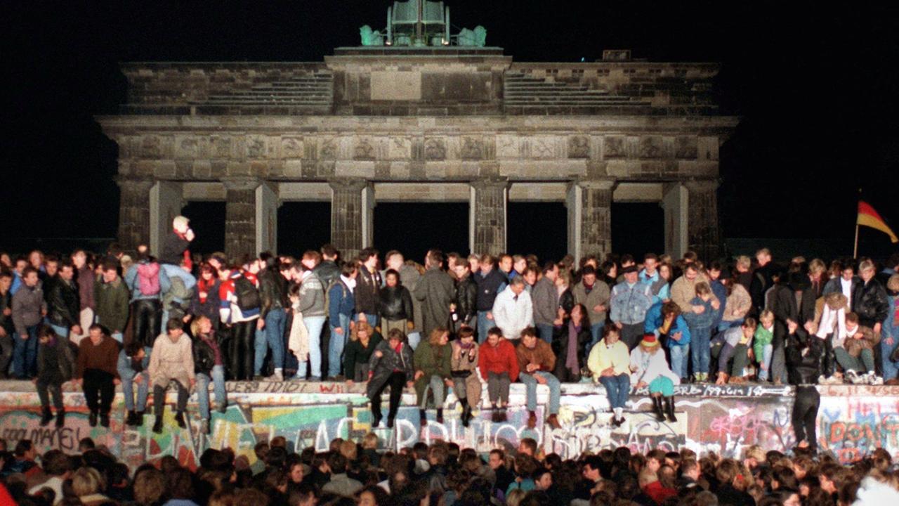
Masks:
[[[612,192],[615,181],[583,179],[568,189],[568,250],[574,258],[602,259],[612,247]]]

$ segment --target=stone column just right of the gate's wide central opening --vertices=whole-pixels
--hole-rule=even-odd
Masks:
[[[509,201],[509,181],[501,178],[478,179],[471,182],[474,194],[470,207],[473,226],[472,253],[497,255],[506,248],[506,204]]]

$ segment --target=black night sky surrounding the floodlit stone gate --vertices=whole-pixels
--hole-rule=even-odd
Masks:
[[[15,11],[8,4],[0,7],[0,249],[22,237],[115,235],[116,147],[102,136],[93,115],[116,113],[125,102],[118,62],[321,61],[334,47],[358,45],[360,25],[382,28],[388,5],[381,0],[30,2],[17,3],[25,6]],[[724,237],[824,239],[850,248],[859,187],[899,229],[895,7],[522,0],[446,5],[454,32],[483,24],[488,45],[503,47],[518,61],[592,61],[603,49],[630,49],[640,59],[721,62],[717,95],[726,113],[743,117],[721,150]],[[416,213],[429,213],[418,207]],[[311,215],[322,214],[315,209]],[[653,210],[630,212],[621,206],[613,212],[615,230],[642,227],[654,216]],[[436,210],[430,214],[441,219]],[[563,228],[564,243],[565,223],[556,223],[558,215],[547,207],[532,224]],[[460,249],[467,246],[467,217],[458,220]],[[325,230],[311,228],[309,241],[326,237]],[[521,230],[510,225],[516,236],[510,247],[522,242],[526,247],[521,238],[527,227]],[[387,231],[382,235],[382,242],[391,240]],[[653,236],[627,248],[636,253],[657,248],[657,242]],[[564,248],[558,245],[559,251]],[[862,253],[882,256],[891,250],[886,235],[863,230]]]

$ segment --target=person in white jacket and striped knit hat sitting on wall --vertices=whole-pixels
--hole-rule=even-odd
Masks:
[[[681,384],[681,378],[672,373],[665,361],[665,354],[659,351],[659,340],[655,334],[644,334],[639,346],[630,353],[630,381],[636,384],[637,389],[649,387],[656,420],[664,421],[667,414],[668,421],[677,421],[674,416],[674,385]]]

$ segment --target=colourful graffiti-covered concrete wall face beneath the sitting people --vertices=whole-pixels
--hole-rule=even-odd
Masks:
[[[637,391],[626,411],[627,422],[614,427],[601,387],[565,385],[558,413],[562,428],[554,430],[542,424],[537,429],[527,428],[528,411],[520,386],[513,385],[509,420],[502,423],[491,421],[490,411],[482,410],[476,411],[476,419],[469,427],[463,427],[458,402],[449,395],[444,422],[431,420],[421,426],[414,393],[406,392],[395,428],[385,429],[382,425],[374,432],[382,448],[444,439],[481,453],[494,447],[511,449],[518,446],[521,438],[534,438],[544,451],[563,458],[619,446],[639,452],[656,447],[666,451],[689,447],[698,452],[740,457],[749,445],[788,450],[796,443],[790,423],[791,391],[785,390],[788,387],[682,385],[678,389],[676,422],[655,420],[648,397]],[[87,422],[84,396],[67,392],[66,427],[56,429],[52,424],[39,426],[36,394],[5,392],[0,393],[0,438],[13,445],[30,438],[40,451],[75,451],[79,439],[90,437],[132,467],[165,455],[176,456],[183,465],[192,467],[207,448],[230,447],[253,462],[253,448],[258,441],[280,436],[287,439],[289,449],[324,450],[333,438],[359,440],[372,431],[368,400],[358,385],[283,382],[255,387],[252,382],[228,384],[227,411],[213,412],[209,435],[200,433],[194,402],[189,404],[186,429],[179,429],[172,410],[166,410],[165,430],[155,434],[149,414],[141,427],[123,424],[120,394],[113,403],[111,428],[92,428]],[[886,447],[891,453],[899,450],[899,389],[871,395],[864,390],[866,387],[845,388],[854,394],[846,395],[841,387],[822,388],[820,446],[832,450],[843,462],[866,455],[876,447]],[[538,420],[547,415],[547,401],[547,391],[539,390]],[[174,402],[174,394],[169,402]],[[384,410],[387,411],[386,405]],[[431,411],[429,417],[432,416]]]

